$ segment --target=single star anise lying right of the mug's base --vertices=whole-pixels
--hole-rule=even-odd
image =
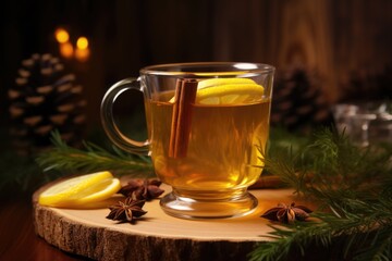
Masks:
[[[267,210],[261,217],[292,224],[294,221],[305,221],[311,212],[313,211],[305,206],[295,206],[295,202],[289,206],[279,203],[278,207]]]

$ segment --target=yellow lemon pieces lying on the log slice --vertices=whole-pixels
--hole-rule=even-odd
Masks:
[[[110,198],[121,188],[110,172],[97,172],[60,182],[41,192],[38,203],[49,207],[81,207]]]

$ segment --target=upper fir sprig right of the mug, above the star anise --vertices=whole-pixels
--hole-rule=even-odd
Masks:
[[[311,196],[314,187],[379,190],[391,172],[391,148],[358,148],[344,134],[320,129],[295,151],[274,149],[266,169],[305,196]]]

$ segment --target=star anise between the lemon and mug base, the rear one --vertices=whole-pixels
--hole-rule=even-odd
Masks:
[[[162,183],[158,179],[131,179],[127,185],[120,189],[120,194],[125,197],[134,197],[139,200],[151,200],[158,198],[163,189],[159,188]]]

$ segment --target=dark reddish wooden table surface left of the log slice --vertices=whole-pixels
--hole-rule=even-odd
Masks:
[[[0,200],[0,260],[86,260],[47,244],[34,232],[33,209],[27,196]]]

